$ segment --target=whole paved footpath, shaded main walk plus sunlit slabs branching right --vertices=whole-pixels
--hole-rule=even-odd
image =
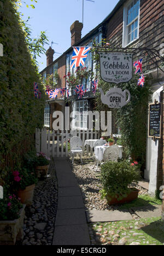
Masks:
[[[87,223],[131,220],[128,210],[85,211],[83,196],[66,158],[55,158],[58,202],[52,245],[90,245]],[[161,205],[132,208],[140,218],[161,216]]]

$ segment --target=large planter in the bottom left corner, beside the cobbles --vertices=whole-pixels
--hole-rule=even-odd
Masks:
[[[26,205],[23,205],[21,208],[19,219],[0,220],[0,245],[15,245],[16,241],[22,240],[25,207]]]

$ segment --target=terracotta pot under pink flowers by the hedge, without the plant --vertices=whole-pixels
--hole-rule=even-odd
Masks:
[[[21,203],[25,203],[26,205],[31,205],[33,200],[33,192],[34,192],[35,184],[26,187],[24,190],[17,191],[17,196],[20,197]]]

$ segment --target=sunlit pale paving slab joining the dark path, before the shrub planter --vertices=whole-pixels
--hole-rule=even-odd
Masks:
[[[128,211],[102,211],[90,210],[86,211],[87,222],[115,222],[118,220],[131,220],[133,219]]]

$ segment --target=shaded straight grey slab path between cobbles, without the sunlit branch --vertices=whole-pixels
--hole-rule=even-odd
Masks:
[[[77,180],[65,158],[55,158],[58,203],[52,245],[90,245],[86,213]]]

